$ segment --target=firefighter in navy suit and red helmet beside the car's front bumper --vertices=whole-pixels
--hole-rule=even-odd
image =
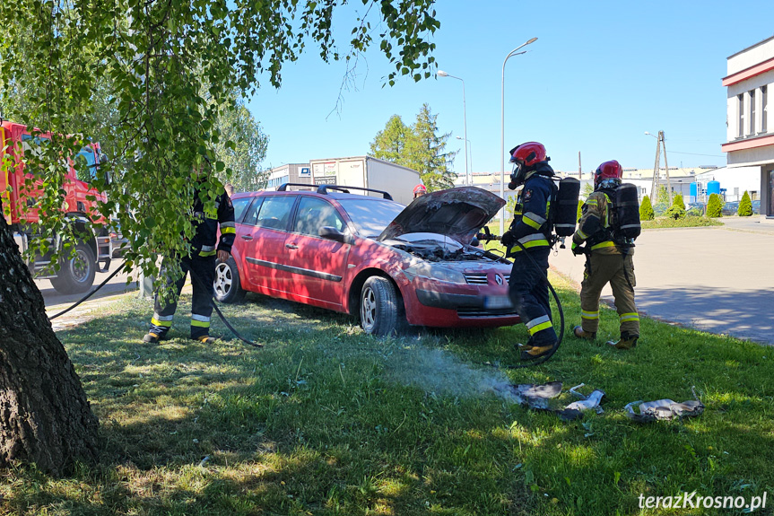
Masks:
[[[526,345],[519,345],[521,358],[527,360],[549,353],[557,341],[545,277],[551,250],[549,210],[557,188],[551,179],[554,174],[543,144],[518,145],[511,149],[510,156],[514,171],[508,188],[513,190],[522,185],[524,188],[517,194],[513,223],[500,241],[513,258],[509,296],[529,332]]]

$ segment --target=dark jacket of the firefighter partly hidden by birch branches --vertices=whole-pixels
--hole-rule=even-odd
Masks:
[[[196,233],[191,239],[192,256],[211,257],[217,251],[231,252],[237,230],[234,225],[234,206],[231,199],[223,192],[215,198],[215,210],[213,213],[204,209],[204,202],[199,198],[199,190],[196,190],[194,200],[194,225]],[[218,236],[218,224],[221,226],[221,238]],[[217,249],[215,241],[217,240]]]

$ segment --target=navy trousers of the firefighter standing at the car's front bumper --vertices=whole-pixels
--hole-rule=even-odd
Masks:
[[[545,279],[550,253],[550,248],[541,247],[517,252],[512,257],[510,301],[516,307],[521,322],[526,325],[532,345],[554,345],[557,340],[551,323],[551,305]],[[535,267],[533,261],[538,267]]]

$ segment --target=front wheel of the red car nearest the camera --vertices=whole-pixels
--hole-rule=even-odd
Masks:
[[[360,316],[363,331],[377,337],[401,335],[407,326],[403,302],[386,277],[371,276],[363,284]]]

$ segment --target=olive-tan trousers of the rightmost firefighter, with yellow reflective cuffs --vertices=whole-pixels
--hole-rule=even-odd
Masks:
[[[587,257],[583,282],[580,284],[581,328],[596,333],[599,328],[599,296],[610,283],[622,337],[639,337],[639,314],[634,304],[634,259],[626,255],[592,252]]]

